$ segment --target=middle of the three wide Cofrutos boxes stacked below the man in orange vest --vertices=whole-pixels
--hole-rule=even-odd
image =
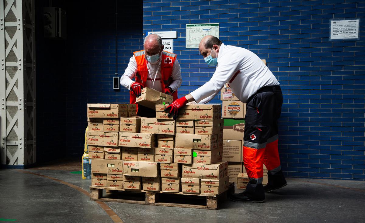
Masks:
[[[119,133],[119,146],[137,147],[137,148],[155,148],[155,134],[151,133]]]

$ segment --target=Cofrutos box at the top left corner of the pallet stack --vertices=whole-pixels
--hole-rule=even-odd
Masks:
[[[119,118],[123,112],[120,104],[88,104],[88,118]]]

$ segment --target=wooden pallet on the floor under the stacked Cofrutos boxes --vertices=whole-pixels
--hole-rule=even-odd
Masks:
[[[107,190],[105,196],[103,196],[103,189]],[[230,184],[228,189],[219,195],[164,193],[90,186],[91,200],[209,210],[217,210],[220,201],[225,200],[232,193],[234,193],[234,184]]]

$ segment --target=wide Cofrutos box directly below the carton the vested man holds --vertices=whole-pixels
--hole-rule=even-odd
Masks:
[[[157,120],[157,118],[142,118],[141,133],[174,135],[175,121]]]

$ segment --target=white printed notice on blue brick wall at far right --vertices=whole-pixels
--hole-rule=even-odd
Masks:
[[[358,40],[360,19],[330,20],[330,40]]]

